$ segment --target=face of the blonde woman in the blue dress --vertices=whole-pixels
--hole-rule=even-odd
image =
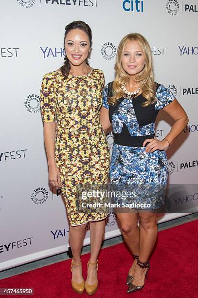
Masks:
[[[139,74],[145,65],[145,56],[136,40],[126,42],[122,54],[122,67],[128,75]]]

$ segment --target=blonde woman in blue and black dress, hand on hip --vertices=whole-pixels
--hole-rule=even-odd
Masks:
[[[111,125],[113,128],[111,187],[131,190],[127,199],[117,199],[122,204],[117,217],[134,257],[126,279],[127,292],[131,293],[144,287],[148,259],[156,242],[156,211],[164,203],[168,177],[164,150],[184,129],[188,117],[174,95],[154,82],[150,46],[142,35],[128,34],[121,40],[115,71],[115,80],[103,93],[100,119],[104,131]],[[155,138],[155,120],[160,110],[175,121],[162,141]],[[124,203],[134,207],[126,209],[129,205]]]

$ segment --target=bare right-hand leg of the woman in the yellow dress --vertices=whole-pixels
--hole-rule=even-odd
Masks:
[[[98,253],[101,248],[101,243],[103,241],[105,233],[105,220],[99,222],[90,222],[90,245],[91,245],[91,255],[90,262],[94,263],[97,261]],[[88,266],[88,276],[87,283],[94,284],[97,281],[96,265],[89,264]]]

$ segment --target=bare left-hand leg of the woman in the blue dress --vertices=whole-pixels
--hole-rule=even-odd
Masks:
[[[139,255],[139,226],[137,213],[117,213],[121,223],[122,234],[125,242],[134,255]],[[129,269],[129,275],[133,276],[137,260],[133,261]]]

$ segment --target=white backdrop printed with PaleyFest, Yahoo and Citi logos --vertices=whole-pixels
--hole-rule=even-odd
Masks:
[[[60,189],[48,183],[39,106],[42,76],[63,64],[64,28],[87,22],[93,34],[90,65],[114,78],[118,44],[144,35],[153,53],[155,80],[168,86],[189,124],[167,150],[169,195],[159,222],[195,212],[198,204],[197,0],[0,1],[0,269],[68,250],[69,223]],[[156,136],[173,121],[160,112]],[[109,148],[113,138],[109,134]],[[110,210],[105,237],[120,234]],[[90,243],[89,230],[84,245]]]

